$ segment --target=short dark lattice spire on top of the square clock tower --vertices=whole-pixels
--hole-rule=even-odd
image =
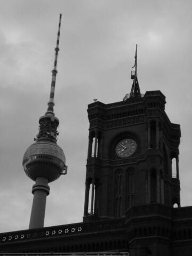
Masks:
[[[135,70],[131,71],[131,79],[133,79],[133,85],[131,87],[131,93],[130,98],[140,98],[141,92],[139,88],[139,82],[137,78],[137,44],[136,44],[136,51],[135,51],[135,63],[132,68],[135,68]]]

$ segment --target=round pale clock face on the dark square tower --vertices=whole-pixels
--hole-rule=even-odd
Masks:
[[[137,149],[137,143],[132,139],[124,139],[118,142],[116,146],[116,154],[120,157],[132,156]]]

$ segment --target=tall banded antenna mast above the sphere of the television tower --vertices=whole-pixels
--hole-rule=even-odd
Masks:
[[[60,27],[61,27],[61,17],[62,14],[60,13],[59,15],[59,27],[58,27],[58,34],[57,34],[57,43],[55,47],[55,58],[54,58],[54,67],[52,70],[52,79],[51,79],[51,91],[50,91],[50,99],[49,102],[47,103],[48,108],[46,111],[46,115],[52,115],[54,116],[54,91],[55,91],[55,82],[56,82],[56,76],[57,76],[57,59],[58,59],[58,52],[59,52],[59,37],[60,37]]]

